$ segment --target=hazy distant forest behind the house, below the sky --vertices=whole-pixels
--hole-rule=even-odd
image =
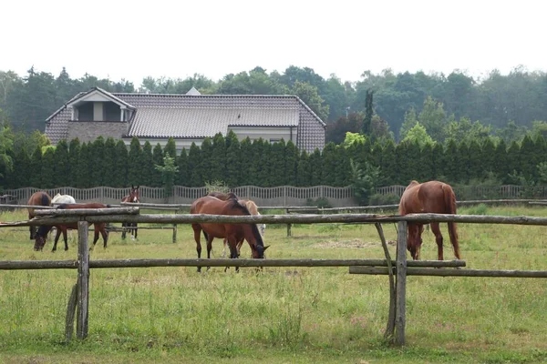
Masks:
[[[15,130],[26,134],[43,132],[47,116],[78,92],[93,86],[109,92],[171,94],[184,94],[195,87],[202,94],[299,96],[326,122],[327,141],[339,144],[347,131],[357,131],[355,120],[362,120],[370,112],[366,99],[367,93],[372,92],[377,118],[371,129],[377,135],[402,140],[408,119],[423,114],[427,105],[434,103],[432,112],[422,115],[429,124],[421,123],[434,140],[444,143],[449,138],[444,130],[464,119],[510,144],[520,140],[534,121],[547,120],[546,85],[547,74],[529,72],[522,66],[508,75],[492,70],[481,79],[460,71],[447,76],[423,72],[395,74],[386,69],[377,75],[366,71],[357,81],[343,81],[335,75],[324,78],[309,67],[289,66],[283,73],[268,73],[257,66],[218,81],[203,75],[183,79],[146,77],[140,86],[125,79],[112,81],[91,75],[75,79],[65,68],[54,76],[31,67],[25,76],[0,71],[0,121],[9,122]]]

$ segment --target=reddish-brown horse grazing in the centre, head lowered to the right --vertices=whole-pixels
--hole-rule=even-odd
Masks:
[[[232,216],[251,215],[247,207],[240,205],[236,199],[229,198],[223,201],[212,196],[205,196],[195,200],[191,204],[190,213]],[[230,258],[238,258],[236,245],[243,238],[249,243],[253,258],[264,258],[264,251],[268,248],[264,247],[263,238],[256,224],[193,223],[191,227],[194,231],[198,258],[201,258],[201,231],[203,231],[203,235],[207,238],[207,258],[211,258],[213,238],[228,239]],[[200,271],[201,267],[198,267],[198,272]]]

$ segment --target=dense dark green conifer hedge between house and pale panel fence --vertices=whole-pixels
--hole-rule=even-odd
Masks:
[[[37,145],[10,149],[10,170],[2,170],[1,185],[18,187],[165,187],[166,184],[202,187],[221,181],[229,187],[354,185],[366,195],[373,187],[408,185],[412,179],[442,179],[452,184],[518,184],[547,182],[545,152],[541,134],[524,136],[521,143],[508,146],[491,137],[479,142],[449,139],[445,144],[420,145],[409,138],[396,144],[370,137],[348,135],[346,141],[326,144],[322,151],[300,152],[292,141],[270,144],[263,139],[239,141],[230,132],[205,138],[201,147],[177,153],[174,140],[165,147],[140,146],[133,137],[129,149],[122,140],[99,136],[93,142],[62,140],[57,147]],[[170,163],[167,163],[167,162]],[[170,172],[170,180],[165,179]],[[168,178],[169,179],[169,178]],[[364,198],[367,198],[365,196]]]

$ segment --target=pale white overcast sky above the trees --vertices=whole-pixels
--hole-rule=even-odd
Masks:
[[[262,66],[325,78],[454,70],[547,70],[547,2],[520,0],[7,1],[0,71],[219,80]]]

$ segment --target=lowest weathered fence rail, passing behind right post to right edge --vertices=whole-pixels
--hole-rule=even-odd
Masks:
[[[408,261],[410,263],[410,261]],[[386,267],[350,267],[351,274],[387,275]],[[492,270],[407,268],[407,276],[429,277],[490,277],[490,278],[547,278],[547,270]]]

